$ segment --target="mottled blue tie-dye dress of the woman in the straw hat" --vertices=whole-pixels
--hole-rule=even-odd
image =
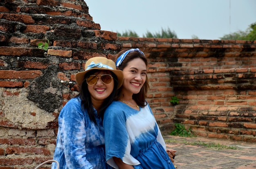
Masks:
[[[58,136],[54,160],[60,169],[108,169],[105,162],[104,129],[95,111],[97,125],[90,121],[81,99],[73,98],[58,117]],[[52,169],[56,169],[52,163]],[[110,168],[110,166],[109,166]]]

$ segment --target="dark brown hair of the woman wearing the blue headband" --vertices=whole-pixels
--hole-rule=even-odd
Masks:
[[[125,53],[127,50],[121,50],[115,57],[115,61],[117,60],[117,58],[122,55],[123,53]],[[148,65],[148,60],[146,59],[146,57],[141,54],[138,51],[134,51],[134,52],[130,52],[126,55],[126,57],[124,58],[124,60],[122,61],[122,63],[120,64],[120,66],[118,67],[119,70],[124,70],[124,68],[127,66],[128,62],[130,62],[133,59],[136,58],[140,58],[144,61],[144,63],[146,64],[146,66]],[[121,97],[123,96],[123,92],[122,92],[122,88],[119,88],[117,90],[117,96],[115,97],[115,100],[120,100]],[[137,94],[132,94],[132,99],[135,100],[135,102],[137,103],[137,105],[139,105],[140,107],[145,107],[147,105],[147,103],[145,104],[145,100],[147,97],[147,92],[149,89],[149,85],[148,85],[148,76],[146,75],[146,81],[143,84],[141,90],[139,91],[139,93]]]

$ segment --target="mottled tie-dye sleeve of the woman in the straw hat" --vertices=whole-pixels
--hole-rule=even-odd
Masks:
[[[60,134],[67,167],[92,169],[93,166],[85,157],[86,121],[80,103],[67,103],[61,111],[63,119]]]

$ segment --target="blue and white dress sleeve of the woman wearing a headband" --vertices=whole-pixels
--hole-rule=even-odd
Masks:
[[[127,111],[127,110],[126,110]],[[120,107],[109,107],[104,114],[105,147],[107,163],[118,169],[112,157],[121,158],[128,165],[140,162],[130,155],[131,144],[126,129],[126,115]]]

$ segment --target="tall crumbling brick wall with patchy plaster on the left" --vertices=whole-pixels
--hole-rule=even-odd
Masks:
[[[49,40],[47,51],[39,42]],[[101,31],[83,0],[0,1],[0,169],[52,159],[58,114],[94,56],[112,59],[117,33]]]

